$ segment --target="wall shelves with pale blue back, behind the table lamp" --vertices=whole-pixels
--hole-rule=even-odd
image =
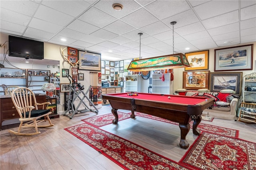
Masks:
[[[44,93],[41,88],[44,83],[50,83],[50,70],[27,70],[27,84],[28,88],[34,93]]]

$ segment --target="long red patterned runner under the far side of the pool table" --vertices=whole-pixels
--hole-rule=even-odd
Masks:
[[[130,114],[131,113],[118,112],[118,121],[130,118]],[[148,115],[145,113],[135,112],[135,115],[140,116],[140,117],[146,117],[148,119],[154,119],[154,120],[178,125],[178,123],[176,123],[176,122],[169,121],[169,120],[166,120],[166,119],[163,119],[160,117]],[[82,121],[84,121],[94,127],[102,127],[102,126],[111,124],[113,119],[114,119],[114,115],[112,113],[108,113],[106,115],[100,115],[100,116],[95,116],[95,117],[91,117],[88,119],[83,119]],[[192,125],[193,125],[193,122],[191,121],[190,128],[192,128]],[[229,129],[226,127],[208,125],[208,124],[204,124],[204,123],[200,123],[198,125],[198,129],[200,131],[206,131],[208,133],[216,133],[216,134],[224,135],[224,136],[228,136],[228,137],[238,137],[238,132],[239,132],[238,130],[235,130],[235,129]]]

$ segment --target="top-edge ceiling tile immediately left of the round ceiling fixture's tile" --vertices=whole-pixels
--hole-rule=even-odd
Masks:
[[[62,0],[61,5],[60,0],[43,0],[42,4],[73,17],[80,15],[90,7],[90,4],[84,0]]]

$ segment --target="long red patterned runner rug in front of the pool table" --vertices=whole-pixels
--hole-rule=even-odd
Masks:
[[[65,129],[124,169],[130,170],[190,170],[182,164],[147,150],[87,123]]]

